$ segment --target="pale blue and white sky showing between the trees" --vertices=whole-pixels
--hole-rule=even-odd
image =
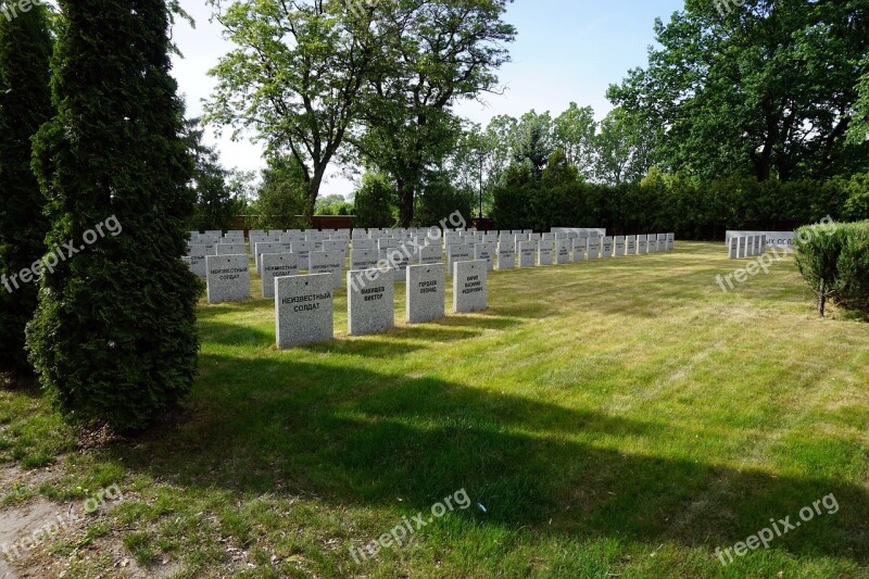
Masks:
[[[570,102],[592,106],[601,119],[612,109],[606,89],[620,83],[630,68],[645,66],[648,46],[654,42],[656,17],[669,21],[681,10],[683,0],[516,0],[505,20],[517,32],[509,45],[513,61],[499,77],[504,95],[486,95],[483,103],[458,103],[456,112],[468,119],[488,124],[493,116],[521,116],[531,109],[553,115]],[[174,59],[173,74],[187,102],[187,115],[202,114],[215,81],[209,71],[231,45],[223,39],[222,28],[212,23],[212,9],[205,0],[181,0],[194,18],[196,28],[179,22],[173,40],[184,58]],[[221,152],[227,168],[257,171],[264,166],[263,147],[249,139],[231,141],[231,129],[223,136],[212,129],[207,141]],[[333,167],[320,194],[348,196],[356,185]]]

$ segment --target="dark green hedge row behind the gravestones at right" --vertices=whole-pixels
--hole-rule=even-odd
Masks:
[[[518,180],[494,191],[501,229],[606,227],[614,235],[675,231],[680,239],[723,240],[728,229],[792,231],[831,216],[869,218],[869,179],[765,181],[729,178],[702,186],[651,173],[610,187]]]

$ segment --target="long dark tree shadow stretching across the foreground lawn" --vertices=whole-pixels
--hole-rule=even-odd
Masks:
[[[399,508],[402,498],[401,514],[464,488],[488,513],[455,516],[478,523],[709,552],[770,518],[795,520],[799,508],[833,493],[837,514],[818,516],[773,547],[869,561],[869,495],[860,486],[618,450],[691,438],[671,425],[290,356],[205,355],[202,365],[226,372],[200,380],[189,421],[108,452],[179,484],[249,496],[288,489],[335,506]],[[702,425],[696,432],[720,436]]]

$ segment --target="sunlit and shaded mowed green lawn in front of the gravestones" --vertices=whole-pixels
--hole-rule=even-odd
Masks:
[[[117,536],[179,576],[867,577],[869,326],[817,318],[792,260],[723,293],[744,264],[678,243],[494,273],[487,312],[421,326],[400,284],[398,327],[366,338],[339,291],[336,340],[291,351],[273,301],[203,304],[186,413],[63,458],[45,494],[125,501],[48,556],[96,576]],[[354,561],[462,489],[469,508]],[[716,557],[830,494],[836,513]]]

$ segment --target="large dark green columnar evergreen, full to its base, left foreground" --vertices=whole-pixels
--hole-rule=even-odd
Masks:
[[[28,347],[74,421],[134,431],[186,395],[201,287],[181,261],[193,209],[164,0],[61,0],[56,116],[35,139],[50,246]],[[108,235],[105,229],[112,235]],[[95,235],[102,231],[106,235]]]

